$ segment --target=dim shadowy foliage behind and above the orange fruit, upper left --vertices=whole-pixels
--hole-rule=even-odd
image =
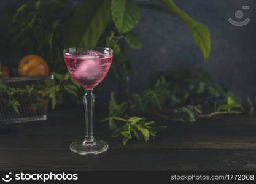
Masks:
[[[2,58],[17,67],[20,59],[28,54],[38,54],[46,59],[55,72],[65,71],[60,64],[66,19],[72,10],[67,1],[26,0],[10,15],[9,32],[3,36]]]

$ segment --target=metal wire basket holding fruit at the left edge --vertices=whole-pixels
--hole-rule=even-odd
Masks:
[[[26,85],[34,85],[37,88],[44,90],[45,80],[54,79],[53,75],[48,75],[44,77],[12,77],[8,79],[0,79],[0,82],[4,83],[11,88],[25,88]],[[1,95],[1,94],[0,94]],[[1,97],[1,96],[0,96]],[[3,96],[1,98],[4,98]],[[30,96],[24,94],[22,96],[15,95],[14,98],[20,103],[18,107],[19,113],[7,103],[0,98],[0,123],[11,124],[11,123],[21,123],[26,121],[39,121],[47,120],[47,104],[48,98],[44,99],[44,105],[36,110],[33,109],[31,105]],[[39,99],[36,99],[39,101]]]

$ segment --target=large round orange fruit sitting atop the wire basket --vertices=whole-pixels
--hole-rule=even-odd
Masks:
[[[18,74],[21,77],[36,77],[49,75],[47,62],[39,55],[27,55],[18,64]]]

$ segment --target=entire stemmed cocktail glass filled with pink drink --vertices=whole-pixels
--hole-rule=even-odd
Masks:
[[[68,48],[63,51],[69,73],[79,85],[85,88],[85,138],[70,145],[71,151],[82,155],[95,155],[107,151],[109,145],[93,137],[93,88],[106,77],[113,59],[110,48],[87,47]]]

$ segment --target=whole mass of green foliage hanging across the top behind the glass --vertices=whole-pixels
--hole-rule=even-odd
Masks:
[[[63,48],[75,45],[111,47],[115,56],[108,76],[118,83],[120,89],[125,88],[121,93],[128,93],[133,68],[125,49],[126,45],[133,49],[142,47],[133,28],[139,22],[140,8],[146,7],[184,21],[207,59],[211,41],[206,26],[189,17],[173,1],[158,1],[161,5],[139,7],[134,0],[83,0],[77,5],[67,0],[25,0],[12,13],[9,35],[2,36],[1,45],[6,50],[4,58],[15,61],[17,66],[21,57],[29,53],[38,54],[46,59],[53,72],[64,74],[66,68],[61,62]]]

